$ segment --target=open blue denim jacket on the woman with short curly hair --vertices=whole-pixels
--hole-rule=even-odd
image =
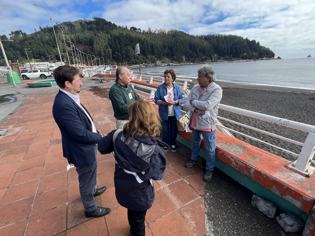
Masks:
[[[180,104],[184,102],[183,94],[181,93],[180,87],[173,83],[173,92],[174,92],[174,101],[178,100],[179,104],[174,105],[174,111],[176,119],[180,119]],[[155,103],[158,105],[158,114],[160,115],[162,120],[169,119],[169,110],[168,106],[161,106],[161,102],[166,102],[164,96],[167,94],[167,88],[165,87],[165,83],[160,84],[157,87],[157,91],[154,96]]]

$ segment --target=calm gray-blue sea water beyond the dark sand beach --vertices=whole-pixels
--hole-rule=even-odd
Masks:
[[[202,64],[141,67],[146,74],[162,76],[164,70],[176,70],[179,77],[194,78]],[[303,88],[315,90],[315,58],[259,60],[249,62],[209,63],[218,81],[232,83]],[[132,69],[138,72],[138,68]]]

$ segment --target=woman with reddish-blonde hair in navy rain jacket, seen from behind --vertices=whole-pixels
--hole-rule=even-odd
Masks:
[[[145,235],[146,211],[154,201],[153,180],[160,180],[165,169],[165,155],[157,140],[159,119],[151,104],[136,100],[128,108],[129,122],[123,130],[113,130],[101,138],[101,154],[114,151],[117,201],[128,210],[131,236]],[[115,138],[116,137],[116,138]]]

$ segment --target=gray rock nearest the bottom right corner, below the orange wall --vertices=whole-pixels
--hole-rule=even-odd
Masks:
[[[287,233],[300,232],[304,228],[304,222],[292,213],[281,213],[276,217],[276,221]]]

